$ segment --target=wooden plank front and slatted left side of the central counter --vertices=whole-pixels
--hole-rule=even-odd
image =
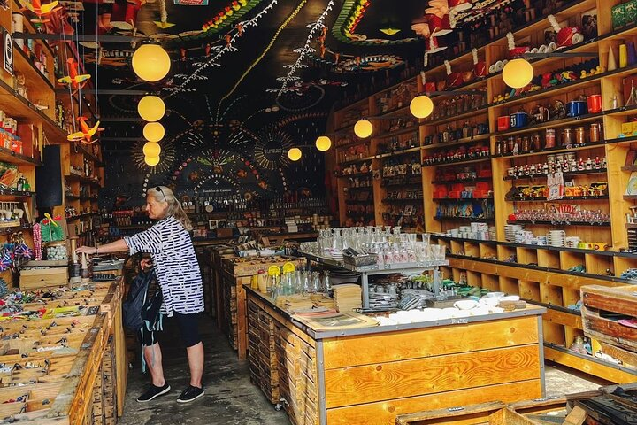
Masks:
[[[252,382],[295,424],[393,425],[399,414],[544,395],[543,307],[316,331],[249,286]]]

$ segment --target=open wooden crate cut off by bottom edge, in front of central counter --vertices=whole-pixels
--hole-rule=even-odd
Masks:
[[[536,425],[501,402],[402,414],[396,425]]]

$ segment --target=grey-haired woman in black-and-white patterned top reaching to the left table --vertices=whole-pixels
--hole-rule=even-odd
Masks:
[[[203,312],[203,285],[195,247],[188,233],[192,225],[173,191],[165,186],[149,189],[146,211],[150,219],[157,220],[151,228],[96,248],[82,246],[77,251],[96,255],[121,251],[129,251],[131,255],[150,253],[152,263],[142,259],[141,266],[152,266],[157,274],[161,291],[157,291],[153,305],[157,305],[160,314],[175,318],[187,347],[190,384],[177,401],[188,403],[204,393],[203,344],[197,329],[197,313]],[[157,297],[162,297],[163,302]],[[151,323],[150,328],[154,328],[153,325]],[[154,332],[144,332],[142,339],[144,359],[152,377],[149,389],[137,398],[138,402],[145,403],[166,394],[171,387],[164,379],[161,349]]]

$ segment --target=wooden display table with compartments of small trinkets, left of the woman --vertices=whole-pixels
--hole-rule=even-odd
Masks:
[[[122,294],[119,278],[22,305],[23,312],[38,312],[32,319],[24,313],[0,318],[0,363],[13,365],[0,369],[3,418],[38,425],[116,423],[127,385]]]

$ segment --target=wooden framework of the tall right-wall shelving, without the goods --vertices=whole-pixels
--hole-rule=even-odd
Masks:
[[[613,30],[610,22],[610,8],[621,3],[619,0],[602,2],[602,0],[572,1],[563,7],[553,11],[558,22],[569,26],[581,24],[582,14],[597,10],[598,35],[568,50],[572,52],[596,52],[599,54],[600,66],[605,70],[607,66],[608,52],[610,48],[615,50],[617,57],[618,46],[622,42],[632,42],[637,35],[637,26],[620,30]],[[599,13],[599,11],[604,11]],[[524,40],[532,47],[538,47],[544,42],[544,31],[550,27],[546,17],[538,17],[524,27],[513,31],[516,40]],[[479,57],[484,58],[487,66],[498,60],[507,58],[508,47],[504,37],[496,37],[486,46],[479,48]],[[587,58],[541,58],[533,60],[535,74],[549,73],[561,68],[577,65]],[[434,58],[435,61],[435,58]],[[462,72],[472,68],[471,52],[466,52],[450,61],[454,71]],[[432,58],[430,58],[432,63]],[[507,92],[503,83],[502,73],[494,73],[479,81],[472,81],[466,87],[472,89],[484,89],[486,91],[485,103],[474,107],[449,113],[440,108],[448,107],[449,95],[432,97],[434,114],[426,120],[420,120],[418,125],[419,145],[421,147],[422,181],[424,219],[427,232],[444,233],[451,228],[466,226],[470,222],[487,223],[495,229],[495,241],[479,241],[462,239],[459,237],[441,237],[443,243],[452,254],[450,265],[444,269],[447,277],[459,280],[461,274],[472,285],[479,285],[490,290],[502,290],[519,294],[529,301],[541,305],[550,305],[549,313],[544,317],[545,357],[557,363],[569,367],[584,370],[589,374],[602,377],[614,382],[634,381],[634,375],[624,367],[617,367],[591,356],[581,356],[569,350],[577,336],[583,336],[581,319],[577,311],[569,311],[568,307],[576,305],[579,300],[579,288],[587,284],[605,284],[609,286],[633,284],[633,282],[621,279],[619,276],[628,268],[637,267],[637,255],[631,252],[623,252],[629,247],[628,233],[626,231],[625,216],[630,213],[630,207],[637,206],[637,196],[625,196],[625,188],[631,173],[637,172],[637,166],[625,165],[629,151],[637,151],[637,137],[620,136],[621,125],[632,117],[637,117],[637,106],[613,107],[611,99],[618,96],[619,100],[625,98],[625,81],[628,77],[637,77],[637,65],[626,66],[614,71],[605,71],[588,76],[585,79],[569,83],[539,89],[524,96],[512,97],[506,101],[494,103],[494,98]],[[440,81],[446,77],[445,67],[434,66],[426,69],[426,81]],[[404,81],[404,84],[416,85],[418,92],[423,91],[422,81],[419,78]],[[630,85],[628,86],[630,87]],[[392,88],[392,89],[395,89]],[[334,123],[339,128],[342,117],[354,116],[349,109],[358,109],[364,106],[364,116],[376,114],[375,104],[377,97],[387,94],[380,92],[368,99],[359,101],[334,113]],[[566,104],[579,96],[592,94],[602,95],[602,112],[591,113],[577,118],[564,118],[541,122],[524,128],[513,128],[506,131],[497,131],[498,117],[508,116],[510,113],[525,110],[531,112],[536,105],[550,105],[556,101]],[[403,112],[403,111],[400,111]],[[399,113],[399,112],[396,112]],[[406,112],[408,113],[408,112]],[[438,115],[440,114],[440,115]],[[390,115],[390,114],[388,114]],[[383,119],[385,116],[382,117]],[[352,126],[355,122],[348,122]],[[372,147],[373,155],[378,140],[393,137],[396,132],[383,131],[380,122],[372,121],[375,131],[372,138],[366,143]],[[588,139],[588,128],[591,124],[602,124],[603,134],[599,140],[591,142]],[[454,129],[463,128],[465,125],[478,128],[478,125],[486,125],[481,128],[480,135],[473,138],[449,137],[445,143],[432,143],[434,135]],[[343,127],[343,126],[342,126]],[[576,146],[562,146],[559,143],[560,132],[564,128],[586,128],[587,141]],[[502,154],[497,148],[497,143],[513,138],[532,135],[543,135],[548,128],[556,130],[556,147],[537,151]],[[348,131],[351,131],[349,128]],[[408,132],[406,132],[408,133]],[[434,140],[442,140],[436,137]],[[447,140],[447,139],[445,139]],[[357,141],[365,143],[365,141]],[[342,149],[348,149],[351,143]],[[543,143],[542,143],[543,145]],[[436,153],[456,151],[460,148],[488,146],[489,157],[479,157],[460,160],[432,161]],[[514,166],[526,166],[549,162],[549,156],[575,155],[575,158],[606,159],[606,168],[568,171],[564,173],[564,181],[574,181],[580,186],[589,186],[595,182],[607,182],[608,192],[598,197],[564,197],[559,201],[560,205],[580,205],[582,209],[599,210],[610,217],[610,220],[602,222],[571,221],[524,221],[510,220],[515,218],[518,211],[526,208],[540,208],[547,203],[545,198],[509,198],[510,189],[518,185],[533,185],[535,182],[546,184],[545,174],[528,176],[512,176],[510,168]],[[338,161],[337,161],[338,163]],[[382,163],[378,158],[372,158],[373,173],[381,173]],[[341,181],[340,179],[339,181]],[[461,213],[441,213],[439,206],[449,204],[452,200],[444,195],[445,188],[449,190],[475,187],[478,183],[486,183],[493,203],[493,219],[478,219],[462,217]],[[340,183],[341,184],[341,183]],[[389,189],[400,189],[402,184],[395,187],[383,181],[382,174],[373,180],[375,200],[387,198]],[[411,185],[412,186],[412,185]],[[343,213],[344,199],[341,190],[339,201],[342,209],[342,224],[347,224]],[[457,199],[457,201],[481,201],[481,199]],[[374,210],[376,222],[382,223],[382,206]],[[546,234],[551,229],[564,229],[567,236],[579,236],[582,241],[592,243],[600,247],[608,246],[605,251],[595,249],[579,249],[566,247],[551,247],[511,243],[506,240],[504,226],[509,223],[525,224],[527,230],[533,230],[535,235]],[[580,269],[585,273],[581,273]]]

